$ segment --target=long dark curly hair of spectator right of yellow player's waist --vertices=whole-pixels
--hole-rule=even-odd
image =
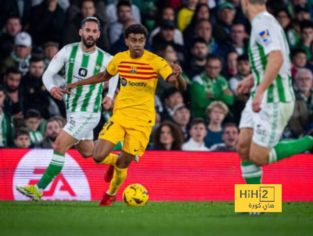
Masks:
[[[182,133],[177,125],[170,121],[164,121],[156,128],[154,132],[153,142],[155,145],[155,150],[165,150],[164,145],[160,142],[161,130],[164,126],[171,129],[172,137],[174,139],[171,150],[181,150],[181,145],[184,142]]]

